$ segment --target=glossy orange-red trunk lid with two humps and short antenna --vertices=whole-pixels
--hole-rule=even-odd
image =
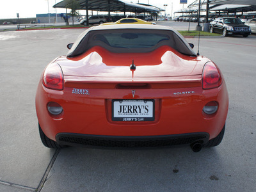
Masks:
[[[161,47],[148,53],[113,53],[97,49],[79,58],[61,57],[56,60],[60,64],[64,76],[93,77],[116,79],[151,79],[198,76],[207,59],[180,54],[170,47]],[[131,70],[132,62],[136,66]],[[146,79],[145,79],[146,78]],[[117,80],[117,79],[116,79]]]

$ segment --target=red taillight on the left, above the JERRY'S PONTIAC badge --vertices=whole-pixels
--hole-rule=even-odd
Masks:
[[[63,74],[60,65],[52,63],[44,71],[43,84],[52,90],[63,90]]]

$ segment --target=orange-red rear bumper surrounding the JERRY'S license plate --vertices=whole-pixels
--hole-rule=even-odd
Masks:
[[[38,122],[45,135],[58,143],[72,143],[68,140],[73,136],[78,136],[80,141],[84,136],[114,136],[118,140],[124,137],[133,140],[136,136],[141,140],[148,136],[176,138],[195,132],[205,132],[209,134],[207,140],[211,140],[218,136],[227,118],[228,93],[225,81],[219,88],[212,90],[202,90],[202,87],[136,89],[134,99],[155,100],[155,120],[150,122],[113,122],[111,119],[112,100],[133,99],[131,89],[88,88],[90,95],[72,94],[72,90],[68,87],[63,91],[47,90],[40,82],[36,93]],[[193,92],[182,94],[188,91]],[[207,116],[202,113],[202,109],[212,100],[218,102],[219,108],[214,115]],[[49,101],[60,104],[63,113],[50,115],[47,111]],[[65,132],[68,136],[64,140],[62,136]]]

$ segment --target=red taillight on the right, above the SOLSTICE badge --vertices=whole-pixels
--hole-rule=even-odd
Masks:
[[[209,90],[221,85],[221,75],[218,68],[212,63],[206,63],[203,70],[203,89]]]

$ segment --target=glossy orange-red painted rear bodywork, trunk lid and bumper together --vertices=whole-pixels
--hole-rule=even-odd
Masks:
[[[136,65],[133,73],[129,68],[132,60]],[[202,88],[202,70],[209,61],[204,56],[184,56],[168,46],[132,54],[93,47],[76,58],[57,58],[52,62],[61,66],[64,88],[45,88],[41,78],[36,91],[38,122],[54,141],[61,132],[102,136],[207,132],[209,139],[215,138],[225,125],[228,93],[224,79],[218,88]],[[81,94],[72,93],[74,89]],[[113,99],[154,99],[154,121],[114,122]],[[218,111],[206,115],[202,109],[212,100],[218,102]],[[47,111],[50,101],[62,106],[60,115]]]

